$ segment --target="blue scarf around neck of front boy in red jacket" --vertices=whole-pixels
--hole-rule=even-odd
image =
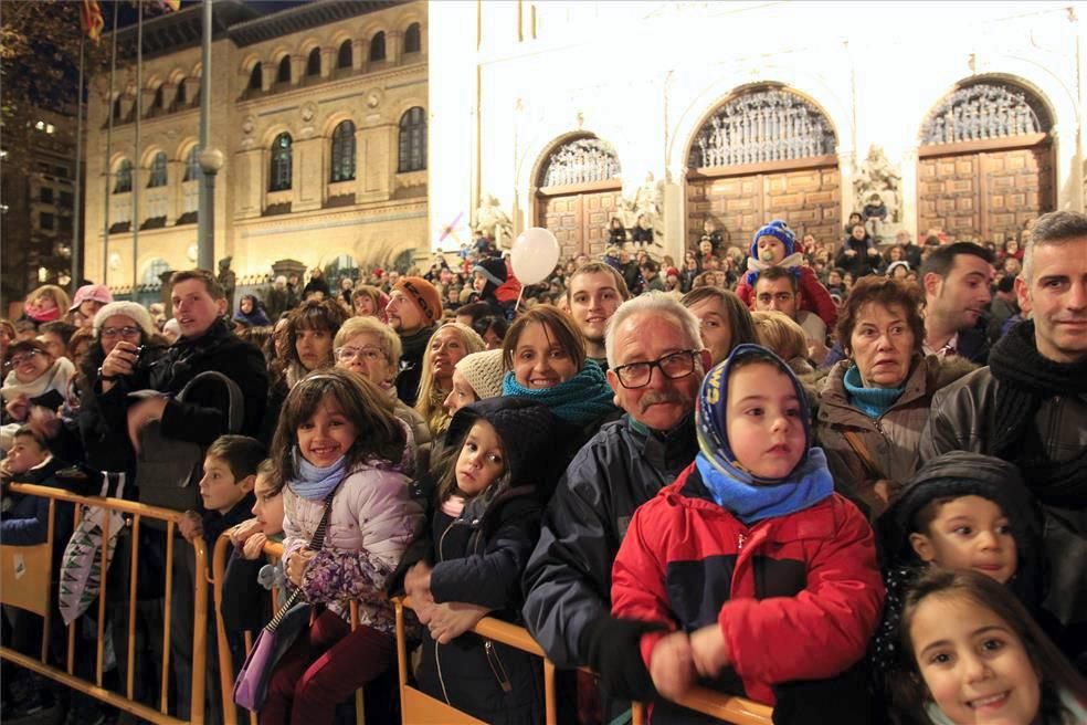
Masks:
[[[721,458],[710,461],[705,453],[695,456],[695,465],[717,505],[747,526],[811,508],[834,493],[834,479],[819,448],[808,451],[808,461],[787,481],[770,485],[752,483],[750,473]]]

